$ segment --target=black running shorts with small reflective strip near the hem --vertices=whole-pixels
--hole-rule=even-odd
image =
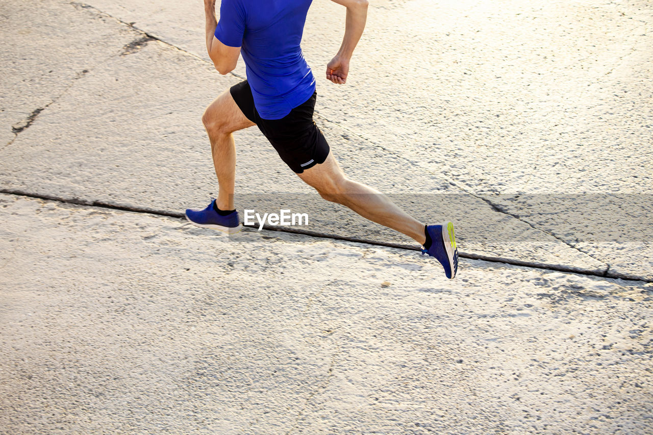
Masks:
[[[261,133],[279,153],[290,169],[301,174],[327,159],[327,139],[313,121],[317,92],[280,120],[264,120],[254,106],[254,97],[247,80],[229,89],[231,96],[248,120],[259,126]]]

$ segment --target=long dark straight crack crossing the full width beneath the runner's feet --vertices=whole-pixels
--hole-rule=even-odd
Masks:
[[[167,210],[155,210],[153,208],[138,208],[133,206],[110,204],[108,202],[103,202],[103,201],[89,201],[89,200],[79,199],[79,198],[62,198],[62,197],[57,197],[55,195],[29,193],[29,192],[21,191],[19,189],[0,189],[0,193],[4,193],[5,195],[14,195],[18,197],[42,199],[44,201],[61,202],[63,204],[73,204],[77,206],[106,208],[108,210],[119,210],[122,212],[152,214],[155,216],[167,216],[176,219],[182,219],[185,221],[185,216],[183,213],[168,212]],[[258,229],[257,225],[244,225],[244,227]],[[328,238],[330,240],[338,240],[341,242],[368,244],[372,246],[383,246],[385,248],[394,248],[394,249],[406,250],[406,251],[420,251],[420,248],[411,245],[379,242],[377,240],[368,240],[364,238],[345,237],[345,236],[340,236],[338,234],[319,233],[317,231],[307,231],[302,229],[295,229],[293,227],[276,227],[271,225],[263,225],[263,229],[266,231],[276,231],[278,233],[298,234],[302,236],[310,236],[310,237],[317,237],[317,238]],[[552,272],[563,272],[563,273],[571,273],[571,274],[578,274],[584,276],[596,276],[597,278],[620,279],[620,280],[628,280],[628,281],[635,281],[635,282],[653,283],[653,280],[648,280],[646,278],[642,278],[641,276],[620,274],[615,272],[607,273],[607,271],[599,274],[594,270],[583,269],[583,268],[578,268],[573,266],[549,265],[547,263],[537,263],[534,261],[521,261],[521,260],[505,258],[505,257],[492,257],[489,255],[463,252],[463,251],[459,251],[459,257],[471,259],[471,260],[486,261],[488,263],[498,263],[503,265],[522,266],[522,267],[535,268],[540,270],[550,270]]]

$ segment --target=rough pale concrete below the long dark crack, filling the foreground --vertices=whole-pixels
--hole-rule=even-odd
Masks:
[[[643,434],[649,284],[0,195],[12,434]],[[264,248],[263,248],[264,247]]]

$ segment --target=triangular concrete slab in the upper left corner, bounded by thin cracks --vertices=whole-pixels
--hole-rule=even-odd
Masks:
[[[133,32],[108,23],[114,21],[65,1],[3,1],[0,149],[76,80],[106,62],[108,47],[130,42]]]

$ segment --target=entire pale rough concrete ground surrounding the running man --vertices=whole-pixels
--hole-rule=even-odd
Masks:
[[[207,62],[200,3],[4,1],[0,433],[652,432],[652,13],[379,0],[335,86],[344,10],[315,0],[303,48],[345,172],[454,217],[467,255],[536,267],[464,259],[447,282],[415,251],[22,197],[204,206],[202,108],[244,67]],[[236,144],[240,209],[411,244],[256,129]]]

